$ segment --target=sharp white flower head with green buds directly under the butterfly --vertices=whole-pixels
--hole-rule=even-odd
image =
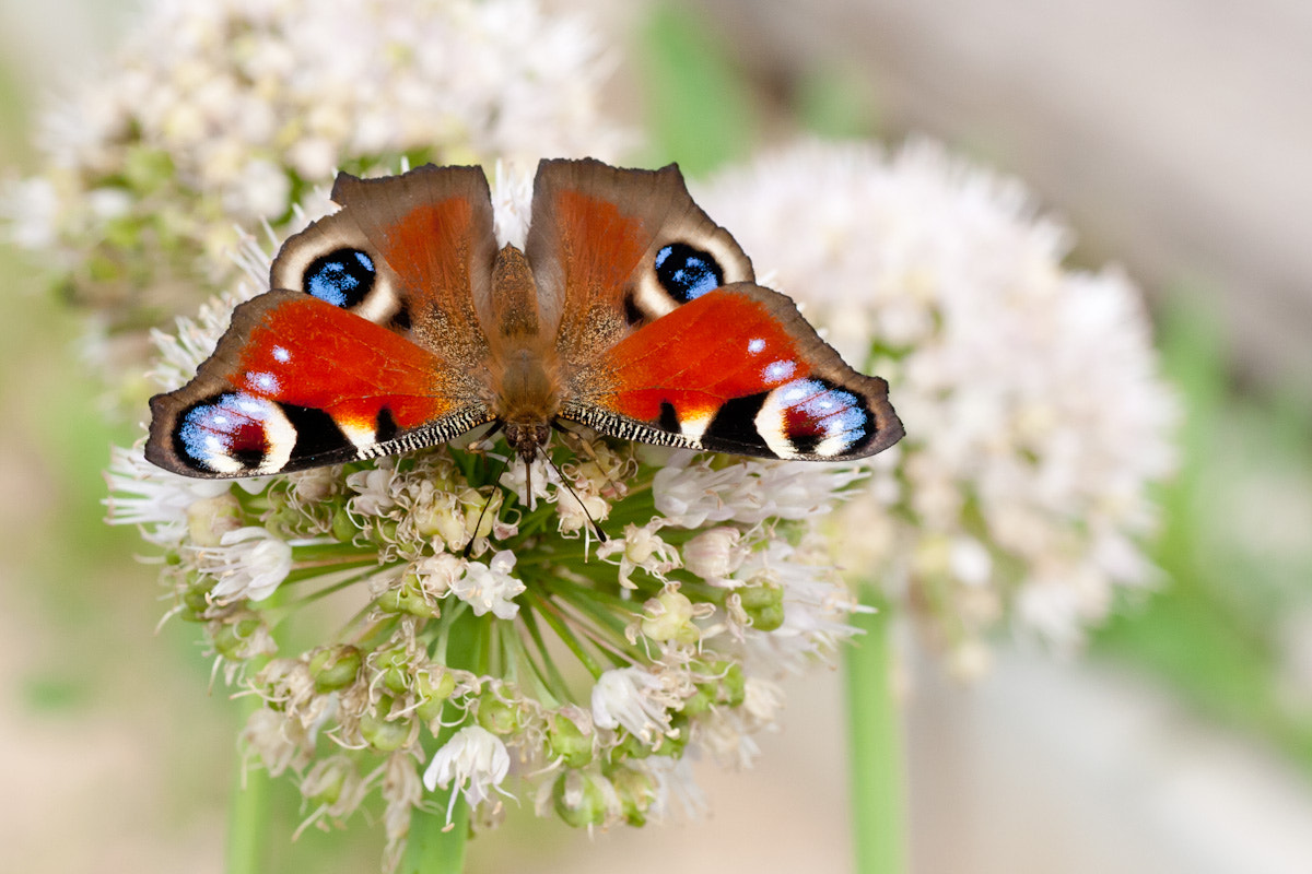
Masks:
[[[188,379],[239,296],[156,334],[160,388]],[[699,810],[684,757],[750,763],[777,681],[854,633],[816,525],[862,474],[563,439],[531,495],[504,444],[468,440],[236,482],[115,452],[112,522],[165,553],[173,612],[268,701],[244,738],[298,776],[307,822],[377,791],[395,853],[407,811],[434,806],[425,785],[458,788],[484,824],[510,791],[588,828]],[[278,651],[273,617],[328,599],[354,618]]]

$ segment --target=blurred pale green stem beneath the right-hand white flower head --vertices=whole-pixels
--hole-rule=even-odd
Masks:
[[[851,752],[851,827],[857,874],[907,871],[907,785],[901,708],[892,688],[892,611],[872,587],[861,603],[878,613],[855,613],[865,630],[846,647],[848,734]]]

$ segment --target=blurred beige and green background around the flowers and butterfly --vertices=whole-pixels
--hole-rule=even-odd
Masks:
[[[1312,870],[1307,4],[581,5],[617,47],[611,106],[690,173],[796,130],[929,134],[1067,216],[1075,265],[1120,262],[1149,295],[1187,408],[1166,579],[1078,660],[1002,639],[971,688],[912,671],[914,870]],[[0,0],[0,170],[35,168],[38,109],[133,13]],[[101,524],[133,423],[104,422],[38,266],[0,249],[0,867],[219,871],[235,714],[193,629],[156,629],[134,532]],[[754,770],[703,768],[703,823],[589,845],[526,801],[470,870],[849,870],[840,687],[794,684]],[[272,870],[375,870],[367,832],[274,841]]]

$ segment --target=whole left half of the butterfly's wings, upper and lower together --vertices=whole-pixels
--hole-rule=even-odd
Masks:
[[[146,456],[195,477],[298,470],[449,440],[492,419],[476,297],[496,253],[476,168],[333,186],[195,379],[151,398]]]

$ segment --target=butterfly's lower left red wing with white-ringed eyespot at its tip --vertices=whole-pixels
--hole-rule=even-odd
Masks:
[[[428,350],[311,295],[237,307],[195,379],[151,398],[146,457],[193,477],[243,477],[449,440],[491,415]]]

